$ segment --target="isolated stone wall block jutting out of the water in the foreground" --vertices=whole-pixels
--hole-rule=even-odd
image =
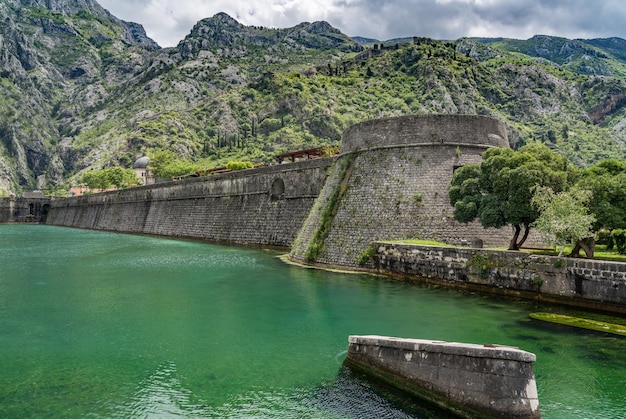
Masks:
[[[467,418],[539,418],[536,356],[517,348],[350,336],[346,365]]]

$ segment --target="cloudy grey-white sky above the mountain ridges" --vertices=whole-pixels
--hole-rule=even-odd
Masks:
[[[288,28],[325,20],[350,36],[527,39],[626,38],[624,0],[98,0],[113,15],[174,46],[199,20],[228,13],[244,25]]]

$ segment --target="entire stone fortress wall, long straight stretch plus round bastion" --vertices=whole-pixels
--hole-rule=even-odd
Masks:
[[[503,244],[508,231],[457,223],[448,202],[454,169],[480,162],[489,147],[508,147],[504,124],[493,118],[367,121],[346,131],[337,158],[58,199],[46,222],[292,247],[296,260],[352,267],[379,239],[457,243],[479,237],[489,245]],[[339,196],[329,208],[333,194]],[[323,218],[329,234],[320,238]],[[306,257],[316,245],[323,251]]]

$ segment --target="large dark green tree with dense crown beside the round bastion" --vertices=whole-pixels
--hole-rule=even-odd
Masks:
[[[491,148],[483,153],[481,164],[468,164],[454,173],[448,195],[457,221],[479,219],[485,228],[512,225],[509,250],[519,250],[539,216],[531,203],[533,189],[548,186],[561,192],[569,176],[567,159],[544,145],[526,145],[518,151]]]

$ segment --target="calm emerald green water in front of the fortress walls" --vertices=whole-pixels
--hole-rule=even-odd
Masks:
[[[0,225],[0,417],[424,417],[341,368],[350,334],[519,346],[544,418],[626,417],[626,339],[545,307],[277,254]]]

